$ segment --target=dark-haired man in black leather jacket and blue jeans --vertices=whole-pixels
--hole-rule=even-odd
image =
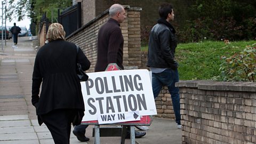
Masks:
[[[175,83],[179,82],[178,63],[174,60],[175,29],[171,25],[174,20],[174,12],[171,4],[162,4],[159,7],[160,19],[151,29],[148,44],[147,66],[152,71],[152,87],[156,98],[162,87],[166,85],[171,94],[175,121],[178,128],[180,124],[180,95]]]

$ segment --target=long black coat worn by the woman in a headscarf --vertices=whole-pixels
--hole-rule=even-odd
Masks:
[[[76,45],[67,41],[53,41],[39,49],[34,65],[31,100],[37,115],[55,109],[84,111],[81,84],[76,74],[77,61],[83,70],[90,68],[91,63],[83,51],[79,49],[77,52]]]

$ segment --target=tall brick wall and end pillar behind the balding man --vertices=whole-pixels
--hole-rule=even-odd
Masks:
[[[140,8],[125,6],[127,19],[121,23],[124,37],[124,66],[141,67],[140,57]],[[91,61],[91,68],[87,72],[93,72],[97,61],[97,37],[99,28],[109,19],[108,10],[98,17],[86,23],[82,28],[68,36],[67,41],[81,47],[86,57]]]

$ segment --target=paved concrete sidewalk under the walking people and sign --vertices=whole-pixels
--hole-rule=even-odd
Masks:
[[[19,37],[18,45],[7,40],[0,48],[0,144],[51,144],[51,133],[45,125],[39,126],[34,106],[31,105],[32,73],[36,48],[31,37]],[[1,43],[1,41],[0,41]],[[0,45],[1,46],[1,45]],[[93,125],[86,129],[88,142],[80,142],[71,133],[70,143],[94,143]],[[73,129],[72,129],[73,130]],[[120,143],[119,137],[102,137],[101,143]],[[154,118],[145,137],[137,143],[181,143],[181,129],[171,119]],[[130,143],[127,139],[125,143]]]

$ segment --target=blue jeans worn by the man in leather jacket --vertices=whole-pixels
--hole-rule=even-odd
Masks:
[[[180,93],[175,83],[179,82],[178,70],[165,69],[162,73],[152,73],[152,87],[154,98],[158,96],[163,86],[167,86],[172,98],[175,121],[180,124]]]

